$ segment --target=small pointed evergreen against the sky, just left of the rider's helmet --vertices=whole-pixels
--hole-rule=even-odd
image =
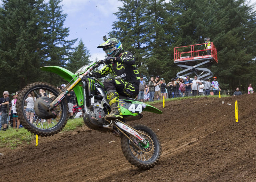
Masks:
[[[92,61],[89,60],[90,56],[91,55],[88,49],[84,46],[82,39],[80,39],[78,46],[74,49],[69,57],[67,69],[74,73],[83,65],[91,64]]]

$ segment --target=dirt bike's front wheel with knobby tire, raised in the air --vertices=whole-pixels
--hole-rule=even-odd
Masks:
[[[31,96],[33,95],[38,101],[43,100],[51,102],[58,94],[59,92],[53,85],[44,82],[31,83],[23,88],[18,95],[16,105],[18,118],[22,126],[31,133],[39,136],[51,136],[60,132],[68,120],[67,103],[65,99],[54,109],[55,116],[48,115],[47,117],[43,117],[44,112],[46,113],[47,111],[44,111],[44,108],[38,108],[36,100],[34,101],[34,107],[31,107],[31,100],[33,102]],[[26,108],[29,102],[30,108]]]

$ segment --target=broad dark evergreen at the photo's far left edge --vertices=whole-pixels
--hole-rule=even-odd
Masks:
[[[0,8],[1,90],[13,92],[39,79],[43,0],[3,0]]]

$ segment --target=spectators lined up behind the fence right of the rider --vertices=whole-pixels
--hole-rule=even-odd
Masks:
[[[219,95],[221,88],[217,81],[217,77],[213,77],[213,81],[209,78],[206,81],[197,79],[197,75],[194,76],[192,81],[189,76],[183,78],[172,78],[170,82],[166,82],[164,78],[160,76],[151,77],[150,81],[145,83],[143,76],[140,76],[138,100],[144,102],[152,102],[164,98],[175,98],[175,97],[190,97],[190,96],[207,96],[207,95]],[[254,93],[252,84],[249,84],[248,94]],[[229,91],[227,95],[230,95]],[[242,95],[239,88],[232,93],[233,96]]]

